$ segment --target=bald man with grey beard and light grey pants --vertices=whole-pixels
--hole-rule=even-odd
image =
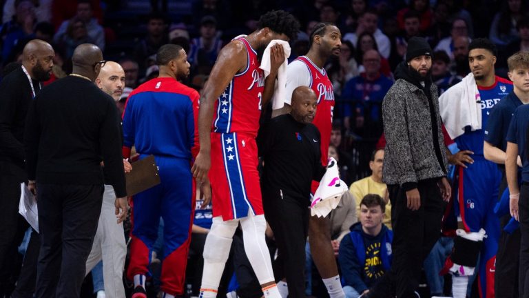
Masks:
[[[96,78],[96,85],[117,103],[125,87],[125,72],[123,68],[114,61],[107,61]],[[125,172],[132,170],[132,166],[125,159],[123,159],[123,166]],[[125,297],[123,268],[125,267],[127,244],[125,244],[123,223],[116,224],[114,215],[115,200],[114,188],[105,179],[101,215],[99,215],[92,251],[86,261],[86,274],[92,271],[99,261],[103,261],[103,282],[105,285],[103,292],[107,298]],[[94,288],[95,290],[99,289]],[[100,295],[98,297],[103,297],[100,292],[98,292],[98,295]]]

